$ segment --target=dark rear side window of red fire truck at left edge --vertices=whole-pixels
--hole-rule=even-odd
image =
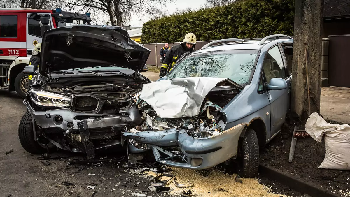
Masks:
[[[17,15],[0,16],[0,37],[16,38],[17,37]]]

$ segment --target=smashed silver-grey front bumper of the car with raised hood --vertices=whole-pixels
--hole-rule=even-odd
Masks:
[[[63,150],[85,152],[90,158],[94,149],[120,145],[122,130],[142,122],[135,104],[112,115],[77,112],[69,108],[35,111],[27,99],[23,103],[33,119],[34,139],[43,135]]]

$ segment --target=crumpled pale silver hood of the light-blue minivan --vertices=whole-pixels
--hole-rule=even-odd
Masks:
[[[140,99],[160,118],[193,117],[200,113],[205,96],[215,86],[243,87],[227,78],[187,77],[144,84]]]

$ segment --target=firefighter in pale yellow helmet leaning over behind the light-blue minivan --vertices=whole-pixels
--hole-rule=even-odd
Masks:
[[[193,33],[188,33],[183,38],[183,41],[172,47],[167,54],[160,68],[159,77],[162,78],[167,72],[173,69],[176,60],[180,58],[182,54],[189,51],[190,53],[194,51],[197,38]]]

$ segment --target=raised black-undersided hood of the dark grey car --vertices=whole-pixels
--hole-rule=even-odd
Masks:
[[[114,64],[140,71],[150,52],[118,26],[59,27],[44,33],[39,72]]]

